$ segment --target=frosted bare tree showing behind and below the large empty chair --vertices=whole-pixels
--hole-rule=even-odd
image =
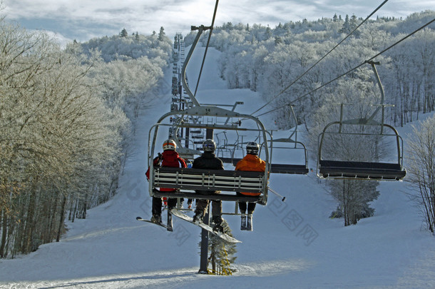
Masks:
[[[369,71],[362,71],[360,77]],[[312,156],[317,156],[317,140],[324,126],[337,121],[337,103],[352,103],[345,110],[344,119],[367,118],[373,113],[372,103],[377,103],[377,86],[369,81],[352,79],[341,81],[334,94],[324,95],[324,104],[313,114],[309,122],[309,147]],[[344,133],[377,133],[378,128],[367,126],[343,126]],[[377,136],[332,134],[324,138],[322,157],[337,161],[379,161],[388,155],[388,146]],[[317,160],[315,160],[317,161]],[[379,196],[377,181],[333,180],[327,181],[329,193],[339,204],[339,213],[344,217],[344,225],[356,224],[360,218],[372,216],[374,210],[369,203]]]

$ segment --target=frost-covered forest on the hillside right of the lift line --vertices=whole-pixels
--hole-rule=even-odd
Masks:
[[[290,21],[275,28],[227,23],[214,29],[210,45],[222,51],[220,75],[229,88],[250,88],[262,93],[265,101],[270,101],[292,84],[272,102],[272,106],[293,103],[300,123],[307,123],[312,110],[322,106],[324,94],[334,91],[338,84],[333,82],[319,91],[309,92],[387,49],[434,16],[435,11],[424,11],[411,14],[404,20],[369,20],[302,78],[299,78],[302,73],[342,41],[363,19],[356,16],[343,19],[334,15],[332,19]],[[186,43],[192,41],[194,35],[186,36]],[[203,41],[206,39],[203,37]],[[434,111],[434,47],[435,29],[432,24],[374,59],[381,62],[377,69],[385,88],[385,102],[394,105],[387,110],[391,123],[403,126],[415,119],[418,113]],[[345,78],[369,78],[374,83],[369,65],[347,74]],[[276,111],[275,118],[282,127],[289,126],[290,119],[282,111]]]

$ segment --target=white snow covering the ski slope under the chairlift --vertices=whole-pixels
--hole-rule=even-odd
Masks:
[[[202,52],[195,52],[188,75],[198,75]],[[208,51],[198,101],[244,101],[237,111],[255,111],[264,103],[257,93],[229,91],[218,78],[218,54]],[[167,77],[170,83],[170,69]],[[286,201],[270,194],[267,206],[257,206],[253,232],[239,230],[238,216],[225,216],[243,242],[237,245],[237,272],[197,274],[198,227],[174,218],[175,230],[169,233],[135,220],[150,218],[144,176],[148,131],[169,103],[167,89],[138,119],[135,153],[115,198],[89,210],[84,220],[67,221],[68,233],[60,242],[1,259],[0,288],[435,288],[435,243],[408,200],[406,181],[382,182],[372,204],[375,216],[344,227],[342,219],[329,218],[337,204],[314,173],[272,175],[271,188]],[[262,121],[272,128],[267,117]],[[409,131],[399,130],[405,141]],[[224,211],[234,211],[234,204],[224,203]]]

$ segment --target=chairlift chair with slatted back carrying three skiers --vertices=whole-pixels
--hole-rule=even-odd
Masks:
[[[175,118],[174,116],[178,116]],[[213,122],[189,123],[183,121],[190,119],[190,116],[207,116]],[[179,119],[178,123],[168,123],[168,118]],[[223,122],[220,119],[237,119],[236,121]],[[240,123],[240,119],[244,119]],[[253,122],[253,125],[252,125]],[[226,123],[226,124],[225,124]],[[247,126],[242,126],[242,124]],[[158,145],[158,131],[162,126],[177,126],[179,128],[201,128],[223,131],[245,131],[262,136],[261,145],[265,151],[266,171],[270,171],[269,148],[267,141],[270,139],[263,124],[255,117],[229,111],[215,106],[194,106],[185,111],[171,111],[165,113],[158,122],[150,128],[148,142],[148,166],[150,167],[150,196],[167,198],[195,198],[221,201],[248,201],[262,205],[267,203],[267,173],[250,171],[227,171],[227,170],[203,170],[196,168],[163,168],[153,167],[153,157],[156,155]],[[185,148],[175,138],[178,145],[177,151],[180,156],[193,159],[200,151]],[[178,193],[160,192],[157,188],[176,188]],[[195,190],[222,191],[218,195],[203,196],[195,193]],[[231,193],[229,193],[231,192]],[[260,196],[236,196],[234,192],[260,193]]]

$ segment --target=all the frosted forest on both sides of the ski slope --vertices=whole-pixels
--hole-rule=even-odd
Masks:
[[[213,29],[210,46],[222,52],[218,73],[228,88],[260,93],[280,128],[295,125],[285,110],[295,105],[297,122],[315,151],[315,136],[337,117],[337,103],[352,103],[346,112],[352,118],[369,115],[369,105],[379,104],[372,68],[359,64],[384,50],[374,60],[385,104],[394,105],[387,106],[385,121],[404,126],[434,111],[435,27],[416,31],[434,18],[435,11],[378,18],[355,31],[362,22],[357,16],[289,21],[275,28],[227,23]],[[120,29],[118,35],[61,48],[46,34],[4,18],[0,26],[0,258],[14,258],[58,241],[66,219],[86,218],[88,208],[116,194],[135,118],[147,100],[161,96],[173,52],[163,27],[148,36]],[[186,46],[194,36],[185,36]],[[367,158],[371,148],[360,145],[357,157]],[[374,158],[382,155],[377,153]],[[369,202],[379,195],[376,186],[332,183],[346,225],[373,213]],[[358,205],[350,206],[352,201]]]

